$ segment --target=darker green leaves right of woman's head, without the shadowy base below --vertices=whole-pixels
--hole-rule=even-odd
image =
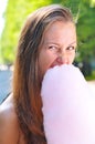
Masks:
[[[95,7],[94,0],[83,0],[81,12],[77,21],[77,39],[81,56],[80,59],[92,59],[95,56]],[[93,4],[93,7],[92,7]]]

